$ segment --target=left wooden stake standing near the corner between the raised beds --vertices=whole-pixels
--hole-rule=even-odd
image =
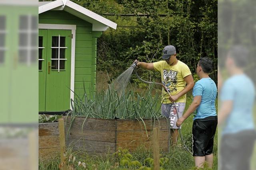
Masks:
[[[60,131],[60,169],[66,170],[66,144],[65,144],[65,129],[64,119],[58,119]]]

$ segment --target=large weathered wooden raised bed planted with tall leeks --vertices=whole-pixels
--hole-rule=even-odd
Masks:
[[[159,120],[159,121],[158,121]],[[159,127],[160,150],[168,152],[170,147],[169,122],[165,118],[144,119],[94,119],[76,117],[70,127],[66,119],[66,146],[88,156],[107,156],[121,147],[134,152],[138,147],[153,149],[153,127]]]

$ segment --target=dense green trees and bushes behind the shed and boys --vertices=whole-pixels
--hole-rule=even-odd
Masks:
[[[135,59],[161,60],[162,49],[174,45],[178,59],[193,74],[200,57],[210,57],[210,76],[217,80],[217,0],[74,0],[116,23],[98,39],[97,69],[117,77]],[[118,14],[134,14],[125,17]],[[139,16],[147,14],[147,16]],[[160,14],[164,14],[162,16]],[[160,74],[139,70],[144,79],[159,80]],[[136,81],[136,78],[134,78]]]

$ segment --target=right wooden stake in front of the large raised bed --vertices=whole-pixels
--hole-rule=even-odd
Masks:
[[[159,156],[159,129],[158,127],[154,127],[154,170],[160,170],[160,156]]]

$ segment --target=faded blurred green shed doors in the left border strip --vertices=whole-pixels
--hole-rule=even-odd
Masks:
[[[6,18],[6,51],[4,62],[0,63],[0,124],[38,123],[38,56],[31,55],[36,59],[30,65],[19,62],[20,16],[28,15],[36,17],[38,6],[0,5],[0,16]],[[37,21],[32,23],[37,25]],[[37,37],[36,32],[34,35]],[[28,39],[22,41],[28,42]]]

